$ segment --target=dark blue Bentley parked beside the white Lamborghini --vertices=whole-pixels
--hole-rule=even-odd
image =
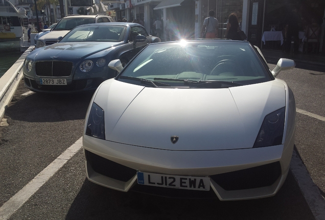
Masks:
[[[92,23],[78,26],[58,43],[32,51],[24,62],[25,86],[34,92],[68,93],[96,89],[142,48],[160,39],[137,23]]]

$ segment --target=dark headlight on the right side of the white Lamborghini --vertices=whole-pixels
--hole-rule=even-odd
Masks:
[[[254,143],[254,148],[281,145],[286,108],[280,108],[265,116],[261,129]]]

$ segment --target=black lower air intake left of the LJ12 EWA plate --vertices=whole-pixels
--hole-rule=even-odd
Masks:
[[[90,163],[91,168],[96,173],[123,182],[129,181],[134,175],[136,175],[136,170],[98,156],[90,151],[85,150],[85,155],[87,162]]]

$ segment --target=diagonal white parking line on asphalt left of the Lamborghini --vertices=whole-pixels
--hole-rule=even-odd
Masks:
[[[82,137],[58,156],[47,168],[42,170],[24,188],[20,189],[2,207],[0,207],[0,219],[8,219],[16,210],[24,205],[36,191],[46,183],[71,157],[82,147]]]

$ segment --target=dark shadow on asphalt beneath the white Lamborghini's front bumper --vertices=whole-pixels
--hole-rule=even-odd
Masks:
[[[84,181],[66,219],[314,219],[291,172],[274,197],[221,202],[123,193]]]

